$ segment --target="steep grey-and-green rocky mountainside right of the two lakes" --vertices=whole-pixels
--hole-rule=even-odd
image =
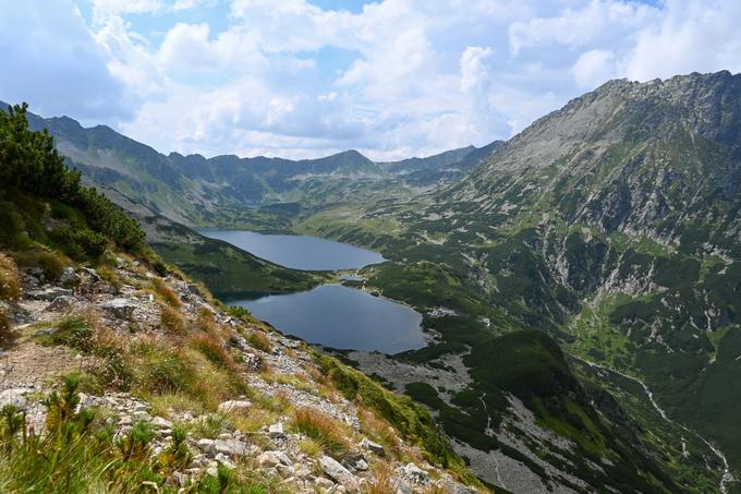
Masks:
[[[423,368],[460,369],[462,359],[466,372],[479,376],[464,391],[481,395],[483,369],[495,373],[496,365],[472,356],[488,334],[545,332],[591,406],[679,489],[738,489],[741,400],[730,362],[741,332],[740,122],[738,74],[612,81],[539,119],[447,190],[365,210],[357,215],[365,221],[328,210],[304,225],[373,245],[394,262],[368,270],[365,286],[427,313],[425,324],[440,341],[408,356]],[[394,229],[379,233],[376,224]],[[354,358],[366,371],[388,371],[387,378],[405,384],[390,371],[398,363]],[[437,386],[434,378],[427,383]],[[446,390],[447,400],[440,395],[442,403],[426,401],[449,432],[460,420],[448,407],[467,407],[471,417],[494,423],[505,418],[503,427],[489,429],[482,419],[469,432],[451,432],[478,447],[467,453],[479,463],[476,471],[510,461],[502,454],[511,451],[486,441],[501,443],[513,426],[507,417],[522,419],[522,410],[466,405],[451,399],[453,391]],[[545,408],[533,399],[523,403],[537,423],[569,437],[568,427],[551,421],[556,410],[569,422],[568,398],[551,398]],[[537,446],[519,444],[543,458]],[[548,463],[594,482],[585,477],[588,468]],[[554,481],[529,463],[522,482],[525,470]]]

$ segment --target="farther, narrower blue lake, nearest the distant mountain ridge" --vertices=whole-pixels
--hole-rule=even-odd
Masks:
[[[245,230],[199,230],[199,233],[294,269],[359,269],[386,261],[377,252],[316,237],[263,234]]]

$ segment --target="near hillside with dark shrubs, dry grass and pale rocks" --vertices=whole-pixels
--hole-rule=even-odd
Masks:
[[[430,414],[227,309],[0,112],[0,491],[489,492]]]

